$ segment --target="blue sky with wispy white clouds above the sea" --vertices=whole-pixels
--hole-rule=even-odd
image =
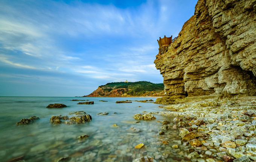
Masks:
[[[197,0],[1,0],[0,96],[83,96],[111,82],[163,83],[157,39]]]

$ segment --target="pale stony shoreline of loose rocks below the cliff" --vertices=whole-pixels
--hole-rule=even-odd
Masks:
[[[150,113],[174,117],[167,127],[179,132],[177,152],[198,162],[256,160],[256,96],[190,99]]]

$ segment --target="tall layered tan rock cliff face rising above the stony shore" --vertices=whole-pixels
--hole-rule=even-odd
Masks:
[[[256,95],[256,0],[198,0],[154,61],[165,95]]]

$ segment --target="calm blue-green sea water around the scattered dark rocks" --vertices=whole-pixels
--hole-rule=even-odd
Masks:
[[[151,99],[156,100],[149,97],[0,97],[0,161],[16,158],[22,162],[131,162],[143,156],[158,162],[180,161],[175,160],[178,152],[172,148],[180,144],[178,132],[169,129],[165,135],[158,135],[162,121],[172,122],[173,117],[153,114],[156,120],[139,123],[133,118],[134,114],[166,111],[161,104],[135,101]],[[85,101],[71,100],[94,101],[94,104],[77,104]],[[132,100],[132,103],[116,103],[122,100]],[[53,103],[67,107],[46,108]],[[50,123],[53,115],[70,116],[70,112],[76,111],[90,114],[92,120],[71,125]],[[109,114],[97,115],[100,112]],[[22,118],[32,116],[40,119],[16,126]],[[88,137],[78,139],[81,135]],[[163,144],[164,140],[168,144]],[[136,149],[141,143],[145,146]]]

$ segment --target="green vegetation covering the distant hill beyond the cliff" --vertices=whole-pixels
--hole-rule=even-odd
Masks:
[[[139,82],[114,82],[107,83],[106,85],[100,86],[104,92],[110,92],[114,89],[125,88],[127,95],[142,95],[149,91],[160,92],[163,91],[163,83],[151,83],[147,81]]]

